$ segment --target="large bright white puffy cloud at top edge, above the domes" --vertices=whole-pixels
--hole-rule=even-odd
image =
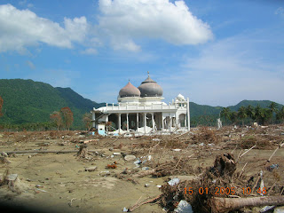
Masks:
[[[213,37],[209,25],[197,19],[184,1],[99,0],[99,29],[114,49],[138,51],[133,40],[160,38],[177,45],[205,43]]]

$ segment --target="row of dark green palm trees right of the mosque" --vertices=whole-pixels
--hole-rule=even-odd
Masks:
[[[241,106],[237,112],[231,111],[229,107],[223,107],[220,116],[225,119],[225,125],[236,124],[237,122],[244,125],[245,122],[258,122],[261,125],[269,123],[284,122],[284,106],[280,109],[278,104],[272,102],[267,108],[259,105],[256,107],[248,105]]]

